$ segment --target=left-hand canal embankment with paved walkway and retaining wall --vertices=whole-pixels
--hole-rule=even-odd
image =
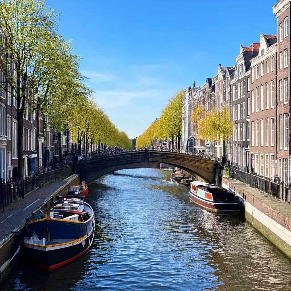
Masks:
[[[17,261],[26,218],[38,208],[50,207],[57,195],[65,195],[68,186],[77,185],[79,182],[78,174],[71,175],[27,194],[25,199],[15,201],[6,207],[6,211],[0,212],[0,283]]]

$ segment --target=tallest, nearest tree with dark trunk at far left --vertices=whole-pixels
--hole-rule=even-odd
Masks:
[[[29,73],[40,43],[57,31],[56,17],[52,8],[46,10],[43,0],[3,0],[0,5],[0,69],[5,78],[1,88],[16,99],[19,176],[23,175],[23,115]]]

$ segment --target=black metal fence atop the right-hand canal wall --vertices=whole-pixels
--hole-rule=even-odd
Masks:
[[[237,169],[235,166],[230,166],[230,178],[291,203],[291,185],[281,181],[279,177],[266,178],[256,173],[248,173]]]

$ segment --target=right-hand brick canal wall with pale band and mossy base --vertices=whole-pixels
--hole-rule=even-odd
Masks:
[[[237,180],[223,178],[222,187],[240,198],[246,221],[291,258],[291,205]]]

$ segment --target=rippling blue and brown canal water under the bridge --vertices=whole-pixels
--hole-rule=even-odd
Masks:
[[[245,221],[196,207],[159,169],[100,178],[93,246],[51,273],[19,264],[2,290],[291,290],[291,260]]]

